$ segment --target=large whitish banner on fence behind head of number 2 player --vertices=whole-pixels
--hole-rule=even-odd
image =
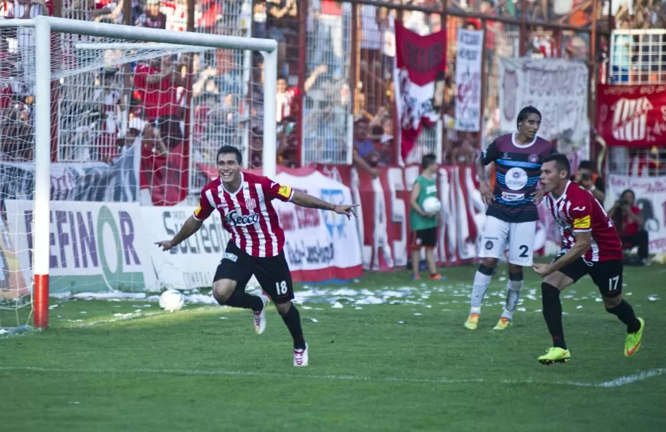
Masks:
[[[541,111],[539,136],[581,141],[589,133],[588,67],[559,58],[500,58],[500,127],[514,132],[518,113]]]

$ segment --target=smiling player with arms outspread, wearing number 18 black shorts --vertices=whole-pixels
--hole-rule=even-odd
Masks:
[[[194,214],[172,240],[156,245],[164,251],[175,247],[192,236],[218,209],[222,226],[231,233],[231,241],[213,278],[213,296],[220,305],[253,310],[257,334],[262,334],[266,328],[266,295],[270,296],[294,340],[294,365],[307,366],[308,345],[303,339],[301,317],[291,303],[294,286],[282,250],[284,231],[271,200],[331,210],[347,218],[354,214],[356,206],[327,203],[268,177],[241,172],[242,155],[233,146],[222,146],[218,150],[217,164],[220,177],[203,188]],[[252,275],[257,277],[266,295],[245,292]]]

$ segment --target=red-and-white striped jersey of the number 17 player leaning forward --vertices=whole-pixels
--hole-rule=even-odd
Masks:
[[[592,192],[569,181],[562,196],[555,198],[549,193],[544,201],[553,218],[560,223],[562,251],[575,245],[574,234],[591,231],[592,245],[583,255],[584,260],[597,262],[623,259],[622,243],[615,226]]]

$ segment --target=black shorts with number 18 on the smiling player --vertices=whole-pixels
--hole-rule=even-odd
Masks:
[[[236,289],[245,291],[252,275],[257,277],[262,291],[271,297],[273,303],[281,304],[294,299],[294,283],[284,251],[280,251],[277,256],[258,258],[240,250],[232,241],[227,243],[225,256],[218,265],[213,282],[235,280]]]

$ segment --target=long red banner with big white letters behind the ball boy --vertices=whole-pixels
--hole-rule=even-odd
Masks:
[[[324,174],[348,185],[358,207],[358,231],[363,244],[363,267],[388,271],[404,267],[410,258],[409,192],[420,173],[416,165],[379,168],[372,179],[365,170],[349,166],[320,167]],[[471,263],[485,223],[476,172],[471,166],[441,166],[437,188],[441,220],[437,249],[438,264],[457,266]],[[560,232],[553,218],[542,212],[537,223],[535,251],[558,250]]]

